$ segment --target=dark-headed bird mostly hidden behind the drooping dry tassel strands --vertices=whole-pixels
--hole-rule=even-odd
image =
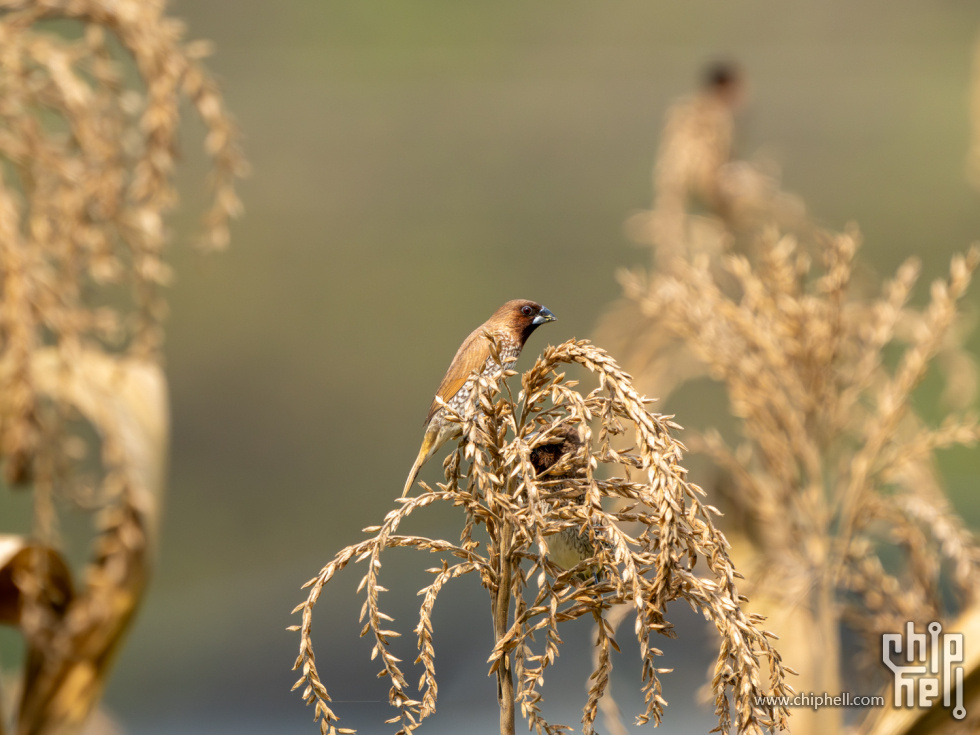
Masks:
[[[537,477],[543,480],[572,480],[584,477],[584,465],[575,460],[584,445],[582,435],[577,426],[563,425],[553,432],[553,439],[547,444],[539,444],[531,450],[531,465]],[[552,470],[560,460],[569,457],[571,466]],[[585,491],[576,494],[568,500],[560,501],[560,506],[582,505],[585,502]],[[593,529],[593,535],[598,530]],[[605,542],[600,538],[599,544]],[[589,538],[589,531],[579,526],[567,526],[548,539],[548,558],[566,572],[573,569],[586,559],[595,556],[596,544]],[[576,579],[587,581],[590,577],[599,582],[601,569],[592,565],[575,574]]]

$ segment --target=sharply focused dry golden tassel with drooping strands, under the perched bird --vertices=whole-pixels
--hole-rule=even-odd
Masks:
[[[558,372],[569,364],[586,368],[598,378],[598,387],[587,394],[575,390],[576,383]],[[370,538],[339,551],[307,583],[308,598],[294,611],[302,612],[302,624],[292,628],[301,633],[295,668],[302,677],[296,687],[303,687],[304,699],[315,704],[321,731],[352,732],[336,726],[311,637],[313,609],[324,586],[352,561],[367,562],[359,587],[367,598],[362,635],[374,639],[372,658],[381,660],[379,675],[391,681],[389,701],[398,715],[390,722],[400,724],[400,733],[413,732],[435,712],[432,612],[443,587],[469,573],[478,574],[490,593],[496,646],[489,660],[491,673],[498,677],[502,733],[514,731],[515,700],[539,734],[571,729],[544,719],[541,686],[559,653],[560,625],[583,615],[599,622],[598,663],[589,678],[582,718],[583,732],[594,732],[612,670],[611,652],[618,650],[604,615],[620,604],[635,615],[643,663],[646,709],[638,723],[659,723],[666,704],[660,675],[668,670],[660,668],[655,636],[673,635],[666,617],[673,601],[687,602],[718,630],[721,643],[711,688],[719,726],[739,733],[783,727],[785,711],[758,705],[755,697],[789,691],[784,667],[769,634],[759,627],[761,619],[744,612],[745,598],[735,582],[739,574],[712,521],[717,511],[702,502],[703,491],[687,480],[683,447],[670,435],[676,425],[649,412],[650,401],[636,392],[630,377],[606,352],[585,341],[547,348],[523,374],[516,399],[503,381],[513,374],[480,378],[470,399],[476,406],[472,418],[453,414],[464,433],[446,460],[445,484],[401,501],[382,525],[365,529]],[[555,437],[560,444],[569,431],[583,438],[575,443],[578,448],[536,474],[534,450],[553,445]],[[623,441],[631,441],[632,447],[614,448]],[[619,501],[616,510],[610,509],[612,501]],[[408,516],[440,502],[464,514],[458,542],[398,534]],[[477,534],[481,526],[485,535]],[[570,527],[588,536],[595,555],[563,570],[548,557],[549,538]],[[638,532],[631,535],[626,527]],[[380,607],[382,554],[399,546],[442,556],[439,566],[429,570],[432,583],[419,592],[423,603],[415,634],[424,669],[420,696],[410,691],[399,660],[389,651],[391,639],[399,634]],[[588,572],[593,568],[596,574]],[[577,581],[581,577],[586,581]],[[542,646],[533,645],[535,636],[543,639]]]

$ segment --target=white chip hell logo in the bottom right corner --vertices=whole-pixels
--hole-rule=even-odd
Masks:
[[[963,667],[955,664],[963,663],[963,634],[943,633],[939,623],[929,623],[926,630],[916,633],[910,622],[904,635],[881,637],[881,660],[895,674],[895,706],[931,707],[942,696],[943,706],[953,707],[953,717],[962,720]]]

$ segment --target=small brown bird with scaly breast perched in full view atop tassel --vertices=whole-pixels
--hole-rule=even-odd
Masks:
[[[456,357],[449,365],[449,370],[439,384],[436,397],[429,406],[429,415],[425,417],[425,436],[422,437],[422,447],[419,456],[412,465],[402,491],[404,498],[415,482],[419,469],[439,448],[450,439],[462,433],[459,424],[447,421],[445,411],[436,400],[441,398],[454,411],[461,412],[473,390],[474,373],[485,375],[497,369],[497,363],[490,355],[490,341],[484,332],[491,334],[497,340],[500,359],[503,367],[510,368],[517,362],[517,356],[531,332],[546,322],[555,321],[555,315],[541,304],[534,301],[516,299],[508,301],[497,309],[493,316],[470,332],[456,352]]]

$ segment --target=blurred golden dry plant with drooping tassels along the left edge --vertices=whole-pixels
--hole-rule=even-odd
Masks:
[[[0,536],[0,622],[26,641],[20,735],[78,732],[146,585],[168,416],[158,293],[179,106],[207,129],[223,246],[238,133],[183,27],[147,0],[0,0],[0,457],[30,491],[29,535]],[[57,21],[57,22],[56,22]],[[88,458],[86,456],[88,455]],[[76,578],[64,505],[90,513]]]

